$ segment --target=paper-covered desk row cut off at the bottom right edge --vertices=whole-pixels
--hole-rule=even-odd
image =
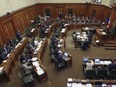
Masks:
[[[80,80],[68,78],[67,87],[115,87],[116,80]]]

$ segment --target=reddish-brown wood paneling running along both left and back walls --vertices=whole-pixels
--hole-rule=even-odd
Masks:
[[[73,9],[73,14],[76,16],[93,16],[95,11],[94,16],[102,21],[105,21],[109,15],[114,15],[114,19],[116,18],[116,10],[115,14],[112,14],[112,8],[104,5],[91,3],[35,4],[0,18],[0,45],[6,43],[11,37],[15,37],[17,30],[23,34],[31,20],[38,15],[44,16],[45,9],[50,10],[51,18],[58,17],[59,11],[62,11],[63,17],[66,16],[68,9]]]

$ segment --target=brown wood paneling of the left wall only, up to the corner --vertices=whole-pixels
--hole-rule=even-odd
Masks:
[[[3,46],[12,37],[15,37],[17,30],[23,34],[24,30],[30,25],[30,21],[37,17],[37,15],[37,5],[35,4],[1,17],[0,46]]]

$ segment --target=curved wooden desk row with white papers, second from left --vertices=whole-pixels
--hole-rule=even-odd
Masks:
[[[47,44],[48,44],[47,38],[44,38],[42,41],[38,43],[37,48],[34,51],[34,55],[37,56],[37,60],[34,61],[35,64],[34,62],[32,62],[32,65],[40,81],[44,81],[48,77],[46,67],[42,63],[42,57],[44,56],[44,52],[45,52],[45,48],[47,47]]]

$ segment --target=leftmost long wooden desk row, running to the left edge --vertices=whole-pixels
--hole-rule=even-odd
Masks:
[[[12,50],[10,54],[7,55],[7,60],[4,60],[0,65],[0,81],[10,80],[10,75],[12,73],[13,67],[15,67],[18,56],[23,52],[26,44],[28,43],[28,38],[24,37]]]

